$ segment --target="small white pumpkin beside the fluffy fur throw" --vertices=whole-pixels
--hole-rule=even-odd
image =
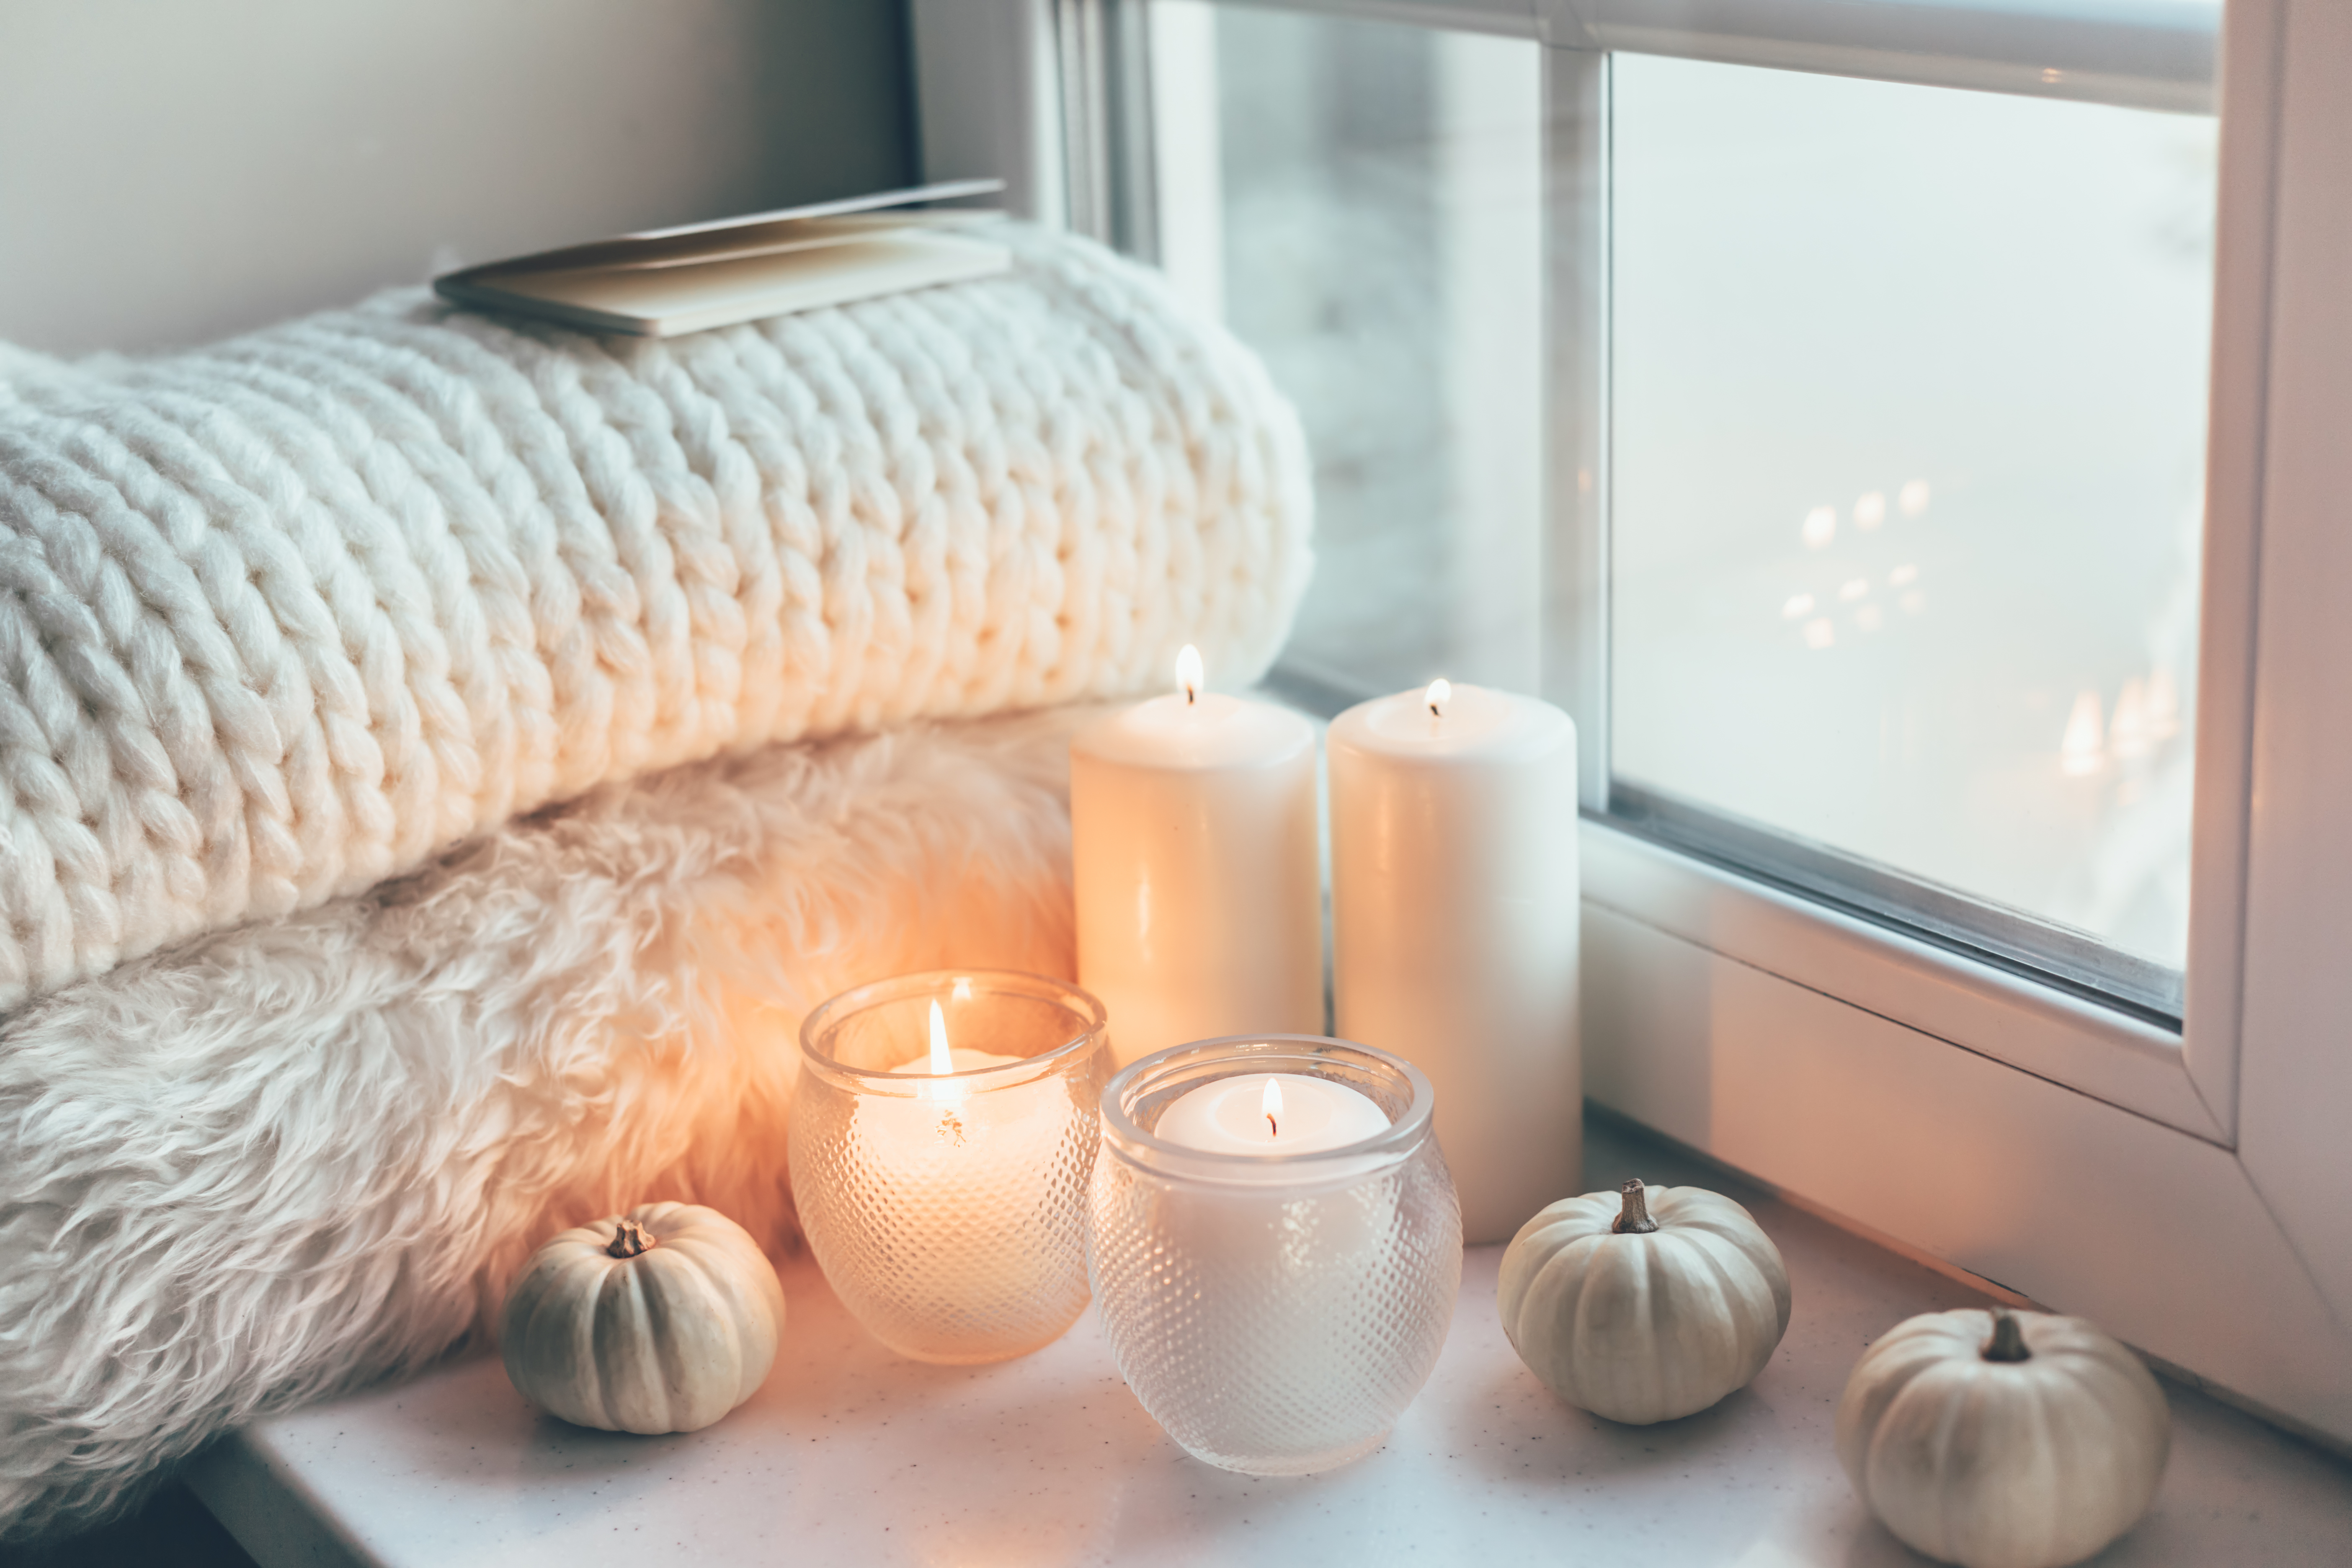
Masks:
[[[576,1225],[522,1269],[499,1333],[506,1375],[550,1415],[604,1432],[696,1432],[776,1363],[783,1286],[750,1234],[694,1204]]]

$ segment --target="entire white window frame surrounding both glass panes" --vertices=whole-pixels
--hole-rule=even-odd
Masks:
[[[1101,108],[1065,118],[1061,80],[1110,2],[915,0],[924,179],[997,174],[1016,212],[1108,235],[1103,158],[1068,155]],[[2352,5],[2230,0],[2223,24],[2173,1034],[1595,809],[1609,778],[1606,49],[2192,108],[2209,89],[2171,28],[2180,0],[1249,2],[1545,47],[1545,686],[1585,736],[1590,1098],[2352,1443]],[[1969,14],[1985,9],[2011,14],[2006,59],[1966,56],[1985,38]]]

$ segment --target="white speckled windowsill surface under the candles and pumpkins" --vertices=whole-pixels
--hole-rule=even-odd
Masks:
[[[1388,1446],[1329,1476],[1254,1481],[1160,1434],[1094,1314],[1023,1361],[922,1366],[866,1338],[800,1260],[774,1375],[706,1432],[567,1427],[475,1359],[263,1422],[191,1481],[263,1568],[1922,1561],[1853,1500],[1830,1415],[1875,1335],[1983,1298],[1611,1121],[1590,1126],[1585,1166],[1588,1187],[1726,1190],[1780,1244],[1797,1314],[1755,1385],[1661,1427],[1571,1410],[1503,1340],[1501,1248],[1472,1248],[1444,1359]],[[2352,1465],[2166,1394],[2157,1507],[2100,1568],[2352,1563]]]

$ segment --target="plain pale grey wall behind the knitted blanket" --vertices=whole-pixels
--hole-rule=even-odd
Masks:
[[[901,0],[0,5],[0,341],[28,348],[910,179]]]

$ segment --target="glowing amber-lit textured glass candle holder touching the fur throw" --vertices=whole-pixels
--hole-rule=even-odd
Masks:
[[[934,1027],[955,1072],[931,1072]],[[1103,1004],[1009,971],[898,976],[809,1013],[800,1056],[793,1199],[842,1305],[917,1361],[1061,1338],[1087,1309]]]

